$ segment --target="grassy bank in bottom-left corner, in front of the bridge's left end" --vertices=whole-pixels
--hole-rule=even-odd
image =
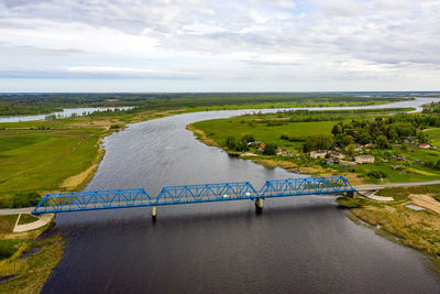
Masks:
[[[0,279],[4,279],[0,282],[0,293],[40,293],[61,261],[65,242],[61,236],[35,240],[50,225],[12,233],[18,216],[0,216]]]

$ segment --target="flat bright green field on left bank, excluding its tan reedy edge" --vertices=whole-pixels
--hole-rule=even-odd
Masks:
[[[0,131],[0,192],[53,190],[91,165],[99,129]],[[67,168],[66,168],[67,167]]]

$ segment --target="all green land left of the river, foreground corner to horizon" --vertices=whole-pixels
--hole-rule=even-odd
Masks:
[[[359,106],[402,99],[336,94],[3,95],[0,115],[47,113],[65,107],[138,107],[85,117],[0,123],[0,206],[32,206],[45,193],[79,189],[94,176],[103,156],[100,140],[128,123],[200,110]],[[36,237],[48,226],[12,233],[16,217],[0,217],[0,291],[37,293],[62,258],[64,239],[52,236],[37,241]],[[35,218],[29,215],[20,218],[20,225],[32,221]]]

